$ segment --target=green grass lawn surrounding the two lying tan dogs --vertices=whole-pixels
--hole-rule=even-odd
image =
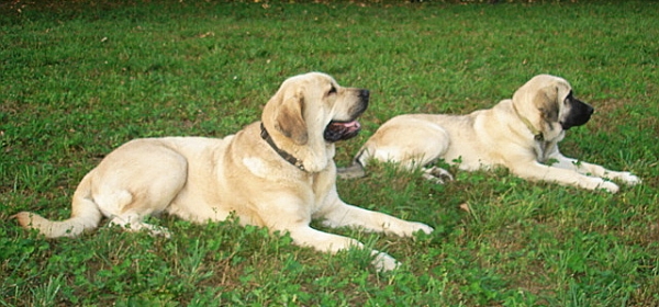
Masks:
[[[658,2],[7,2],[1,306],[659,305]],[[611,195],[453,169],[457,181],[433,185],[377,166],[339,181],[342,197],[436,231],[324,230],[404,263],[390,274],[362,251],[328,255],[231,220],[154,218],[169,240],[108,227],[46,240],[9,219],[68,217],[79,180],[116,146],[235,133],[311,70],[371,90],[338,164],[393,115],[487,107],[548,72],[596,107],[563,154],[644,183]]]

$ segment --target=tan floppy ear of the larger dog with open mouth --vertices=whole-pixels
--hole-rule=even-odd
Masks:
[[[266,105],[264,122],[270,120],[272,127],[298,145],[309,141],[304,122],[304,94],[302,91],[280,90]]]

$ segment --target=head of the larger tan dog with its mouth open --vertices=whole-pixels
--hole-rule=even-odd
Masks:
[[[361,126],[357,117],[366,111],[368,100],[368,90],[344,88],[328,75],[309,72],[291,77],[281,84],[266,104],[261,121],[268,132],[290,140],[295,147],[293,151],[304,151],[302,147],[306,147],[317,152],[325,150],[327,144],[359,133]]]

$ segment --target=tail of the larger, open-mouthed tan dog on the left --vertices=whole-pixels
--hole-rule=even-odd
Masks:
[[[92,171],[93,172],[93,171]],[[99,226],[101,211],[91,197],[91,173],[88,173],[74,193],[71,217],[62,221],[53,221],[41,215],[21,212],[12,217],[26,229],[36,229],[47,238],[76,237],[86,229]]]

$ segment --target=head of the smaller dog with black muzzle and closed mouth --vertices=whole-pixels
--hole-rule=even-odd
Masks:
[[[513,95],[513,104],[540,132],[581,126],[594,112],[590,104],[574,98],[568,81],[549,75],[528,80]]]

